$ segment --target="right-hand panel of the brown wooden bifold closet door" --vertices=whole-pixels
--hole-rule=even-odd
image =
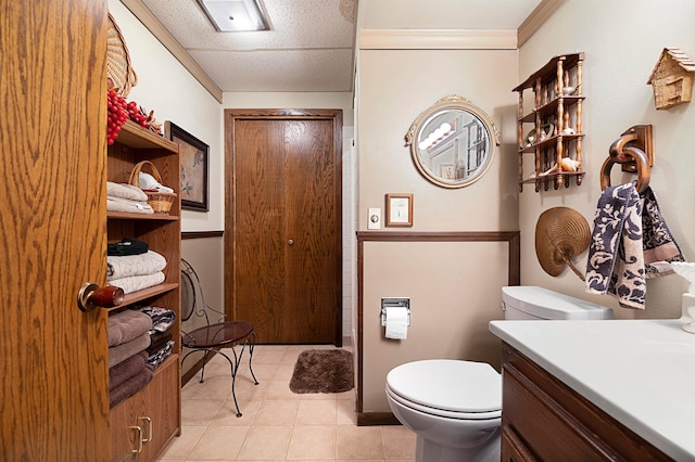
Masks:
[[[336,306],[336,271],[340,269],[336,264],[340,229],[336,229],[334,159],[327,150],[332,146],[332,123],[283,124],[288,146],[286,235],[293,242],[285,247],[290,281],[283,337],[290,343],[331,343],[336,313],[330,308]]]

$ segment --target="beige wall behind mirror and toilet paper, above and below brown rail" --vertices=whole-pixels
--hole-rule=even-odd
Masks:
[[[361,31],[362,33],[362,31]],[[403,31],[401,31],[403,33]],[[407,33],[403,33],[407,35]],[[517,50],[361,49],[357,74],[359,230],[384,194],[413,193],[413,227],[381,231],[516,231]],[[485,175],[448,190],[417,170],[405,133],[418,115],[447,94],[467,98],[502,132]],[[380,232],[380,231],[375,231]],[[367,242],[363,279],[363,412],[388,412],[386,375],[425,358],[500,364],[488,322],[502,319],[506,243]],[[381,297],[410,297],[408,338],[384,338]]]

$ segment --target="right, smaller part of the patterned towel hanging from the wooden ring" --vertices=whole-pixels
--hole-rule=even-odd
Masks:
[[[647,188],[641,200],[645,277],[648,279],[673,274],[670,264],[685,261],[683,253],[664,220],[652,188]]]

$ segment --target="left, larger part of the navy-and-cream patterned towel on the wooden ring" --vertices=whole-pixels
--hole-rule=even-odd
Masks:
[[[644,309],[642,203],[634,183],[608,187],[598,197],[586,265],[586,292]]]

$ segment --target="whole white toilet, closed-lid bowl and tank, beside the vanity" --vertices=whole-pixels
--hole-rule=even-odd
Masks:
[[[535,286],[502,288],[505,319],[612,319],[612,309]],[[502,377],[483,362],[431,359],[387,375],[387,400],[417,434],[417,462],[500,460]]]

